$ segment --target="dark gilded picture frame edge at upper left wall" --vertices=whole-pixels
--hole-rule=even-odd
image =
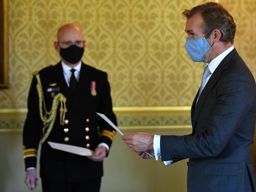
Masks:
[[[0,0],[0,89],[8,88],[8,0]]]

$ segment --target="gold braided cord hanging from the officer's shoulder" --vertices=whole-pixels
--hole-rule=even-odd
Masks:
[[[67,113],[67,108],[66,108],[67,99],[65,98],[65,96],[63,94],[58,93],[52,101],[51,110],[47,111],[40,76],[39,76],[39,74],[37,74],[35,77],[37,79],[37,92],[38,92],[38,97],[39,97],[39,112],[40,112],[41,120],[43,121],[43,124],[44,124],[43,138],[40,140],[40,144],[43,144],[45,142],[45,140],[48,138],[48,136],[50,135],[50,133],[52,131],[52,127],[54,126],[54,122],[55,122],[56,116],[57,116],[59,102],[61,103],[61,106],[59,109],[59,111],[60,111],[60,122],[59,123],[61,125],[64,125],[65,114]],[[43,114],[43,111],[45,111],[45,114]],[[45,133],[46,127],[48,127],[48,129]]]

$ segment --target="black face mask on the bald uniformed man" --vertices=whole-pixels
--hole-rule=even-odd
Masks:
[[[80,61],[80,59],[83,56],[83,51],[84,48],[83,47],[78,47],[76,45],[71,45],[68,48],[60,48],[60,56],[65,59],[67,62],[71,63],[71,64],[75,64],[78,61]]]

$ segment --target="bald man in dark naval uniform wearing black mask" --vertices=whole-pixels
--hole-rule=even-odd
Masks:
[[[115,131],[95,112],[117,124],[107,74],[82,63],[85,40],[81,28],[66,24],[58,30],[55,49],[61,61],[33,74],[23,131],[25,183],[37,186],[36,162],[41,147],[40,176],[44,192],[98,192],[102,161]],[[51,148],[48,141],[95,151],[85,157]]]

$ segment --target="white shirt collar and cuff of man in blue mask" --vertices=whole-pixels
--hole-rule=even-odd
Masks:
[[[234,46],[231,46],[230,48],[228,48],[227,50],[225,50],[223,53],[221,53],[220,55],[218,55],[217,57],[215,57],[209,64],[209,70],[211,72],[211,74],[208,76],[208,78],[206,79],[206,82],[204,84],[204,87],[206,85],[206,83],[209,81],[211,75],[213,74],[213,72],[215,71],[215,69],[219,66],[219,64],[221,63],[221,61],[226,57],[226,55],[228,55],[232,50],[234,49]],[[198,98],[197,98],[198,100]],[[155,153],[155,158],[156,160],[161,158],[161,149],[160,149],[160,139],[161,139],[161,135],[154,135],[154,141],[153,141],[153,146],[154,146],[154,153]],[[173,161],[163,161],[165,165],[170,164]]]

